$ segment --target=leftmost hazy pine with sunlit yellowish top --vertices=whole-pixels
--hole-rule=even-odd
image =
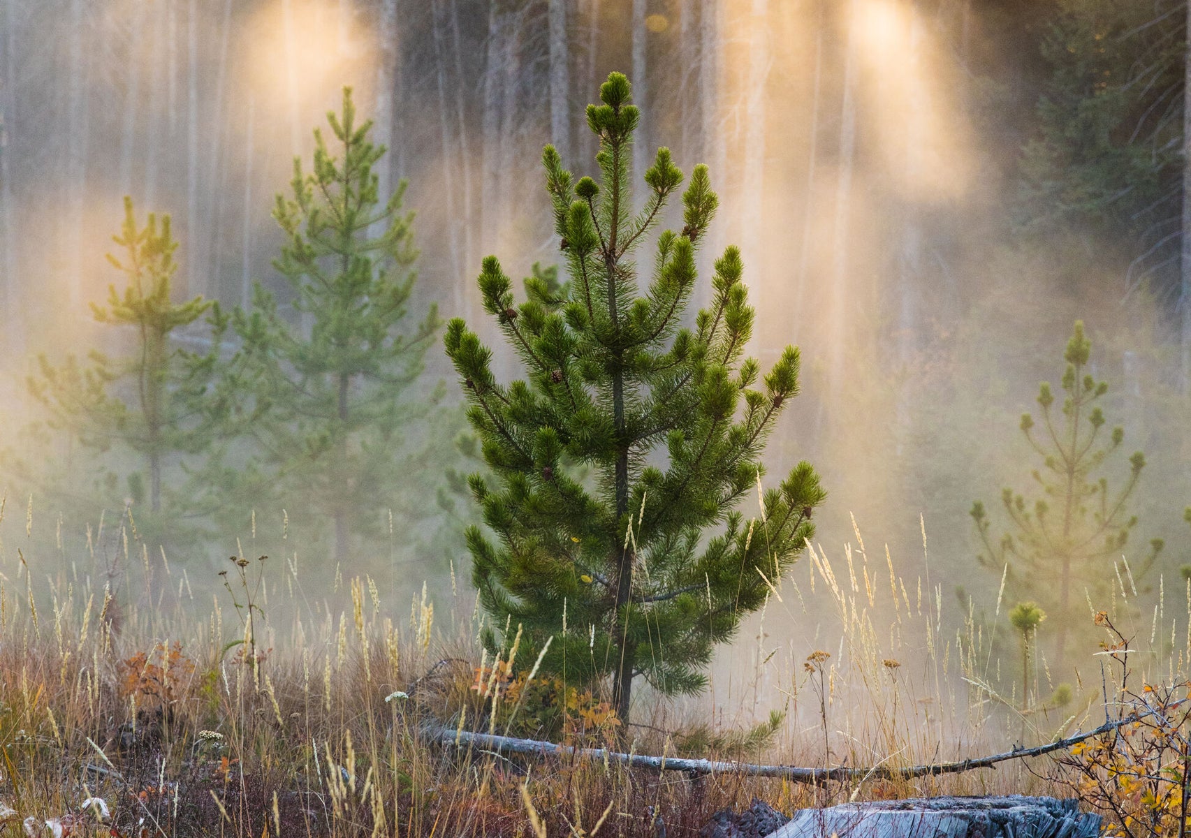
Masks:
[[[157,513],[172,458],[201,451],[211,439],[205,402],[218,340],[210,352],[197,355],[172,346],[170,338],[212,309],[212,304],[202,298],[173,300],[177,242],[169,215],[158,221],[150,213],[142,227],[132,199],[125,198],[124,224],[113,240],[120,255],[107,258],[125,283],[120,289],[110,286],[107,305],[92,304],[92,312],[98,323],[130,327],[135,345],[123,357],[93,350],[89,363],[71,356],[61,367],[43,355],[39,375],[30,376],[27,386],[49,409],[52,429],[93,451],[135,454],[142,468],[127,474],[127,492],[133,502],[148,500],[150,511]],[[225,319],[218,308],[211,323],[217,333],[222,331]],[[104,474],[108,488],[114,488],[116,471],[105,468]]]

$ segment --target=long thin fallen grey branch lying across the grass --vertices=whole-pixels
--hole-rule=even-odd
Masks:
[[[928,765],[906,765],[904,768],[890,768],[874,765],[871,768],[799,768],[797,765],[756,765],[743,762],[724,762],[716,759],[684,759],[680,757],[653,757],[642,753],[622,753],[605,748],[575,748],[573,745],[559,745],[553,742],[540,739],[518,739],[511,736],[497,736],[493,733],[472,733],[469,731],[454,731],[447,727],[436,727],[429,731],[431,738],[443,745],[463,745],[476,748],[497,753],[522,753],[525,756],[549,757],[549,756],[575,756],[584,759],[599,762],[618,762],[631,768],[644,768],[654,771],[685,771],[692,775],[703,774],[747,774],[755,777],[782,777],[800,783],[823,783],[831,780],[910,780],[913,777],[937,776],[941,774],[961,774],[978,768],[992,768],[997,763],[1010,759],[1023,759],[1025,757],[1039,757],[1054,751],[1061,751],[1078,745],[1081,742],[1109,733],[1133,724],[1153,711],[1137,714],[1133,713],[1124,719],[1109,721],[1087,733],[1077,733],[1066,739],[1058,739],[1046,745],[1034,748],[1015,748],[1004,753],[993,753],[987,757],[973,759],[961,759],[959,762],[940,762]]]

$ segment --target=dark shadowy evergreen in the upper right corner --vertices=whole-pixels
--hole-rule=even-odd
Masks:
[[[1184,0],[1059,0],[1022,161],[1023,226],[1123,243],[1134,284],[1179,288]]]

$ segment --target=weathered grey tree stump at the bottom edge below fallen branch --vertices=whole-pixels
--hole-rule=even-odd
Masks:
[[[799,809],[769,838],[1096,838],[1100,817],[1054,798],[931,798]]]

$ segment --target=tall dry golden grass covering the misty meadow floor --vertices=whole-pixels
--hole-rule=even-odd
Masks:
[[[39,562],[11,545],[0,557],[0,801],[20,818],[57,815],[99,795],[126,836],[591,836],[597,827],[657,836],[665,823],[673,838],[696,836],[712,812],[753,796],[788,811],[866,798],[1065,793],[1046,759],[811,788],[443,749],[429,740],[429,724],[517,732],[528,709],[490,675],[474,640],[482,617],[464,594],[437,618],[423,594],[398,618],[367,576],[336,573],[316,602],[293,559],[241,558],[200,581],[133,538],[123,539],[118,574],[93,556]],[[1120,625],[1130,613],[1137,619],[1129,584],[1122,579],[1111,604]],[[1174,634],[1187,617],[1167,617],[1160,587],[1153,631],[1139,632],[1149,636],[1152,653],[1140,657],[1152,671],[1137,676],[1155,681],[1174,680],[1186,663]],[[990,636],[1006,608],[992,606],[987,624],[974,609],[944,613],[937,582],[904,579],[885,551],[871,557],[859,531],[840,555],[815,545],[794,575],[775,581],[754,624],[753,681],[737,688],[728,721],[752,720],[736,712],[750,696],[762,712],[786,713],[755,758],[898,767],[1046,742],[1102,720],[1098,673],[1062,711],[1023,702],[1023,689],[1049,693],[1048,667],[1034,661],[1023,682],[1011,637],[1000,659]],[[806,624],[816,609],[834,612],[818,628],[822,649],[768,649],[766,625]],[[723,711],[710,715],[722,720]],[[692,713],[642,706],[632,746],[673,753],[685,742],[740,753],[738,737],[732,744],[723,724]],[[0,836],[19,831],[15,818],[0,821]]]

